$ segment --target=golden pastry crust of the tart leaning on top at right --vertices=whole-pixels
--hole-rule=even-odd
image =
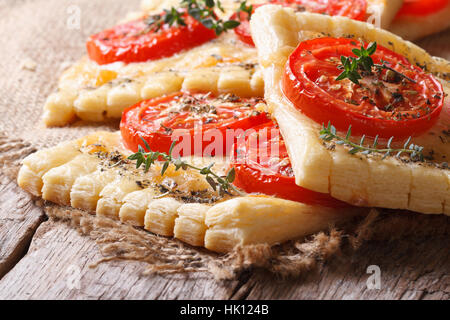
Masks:
[[[376,41],[442,77],[450,75],[448,61],[431,57],[414,44],[370,24],[342,17],[295,14],[279,6],[256,10],[251,28],[263,67],[266,102],[280,125],[298,185],[359,206],[450,214],[448,169],[435,167],[450,157],[449,142],[441,137],[442,131],[450,127],[448,99],[438,123],[413,140],[435,152],[435,163],[430,165],[403,163],[394,157],[381,160],[351,155],[339,145],[330,150],[319,138],[321,124],[300,113],[280,88],[290,53],[300,41],[320,36]],[[450,92],[448,83],[442,83]]]

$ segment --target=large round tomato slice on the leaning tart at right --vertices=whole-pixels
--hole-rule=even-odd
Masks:
[[[430,129],[442,111],[442,85],[403,56],[378,46],[371,57],[375,64],[384,63],[413,81],[377,68],[361,71],[359,85],[336,80],[342,72],[341,56],[355,57],[352,50],[360,46],[344,38],[300,43],[286,63],[285,96],[315,122],[330,121],[341,131],[352,125],[352,132],[359,135],[405,138]]]

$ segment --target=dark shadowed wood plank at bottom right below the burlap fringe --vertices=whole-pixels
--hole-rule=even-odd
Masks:
[[[299,279],[253,274],[233,299],[450,299],[450,239],[371,242],[353,256],[332,260]],[[380,289],[368,289],[380,268]]]

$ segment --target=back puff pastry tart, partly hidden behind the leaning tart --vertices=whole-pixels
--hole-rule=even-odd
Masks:
[[[262,96],[264,84],[256,51],[240,40],[245,26],[248,30],[246,11],[241,9],[237,16],[242,3],[222,2],[219,6],[213,1],[210,8],[205,1],[185,1],[183,7],[174,0],[145,1],[141,16],[92,35],[86,45],[88,55],[63,73],[57,92],[48,97],[45,124],[64,126],[76,119],[100,122],[120,118],[126,107],[179,90]],[[249,10],[250,4],[256,7],[262,2],[247,1],[248,7],[244,3],[243,8]],[[283,2],[297,10],[355,19],[375,17],[374,23],[384,27],[400,3],[330,0],[317,6],[316,1]],[[203,10],[201,17],[198,5]],[[235,28],[239,21],[242,26],[236,34],[223,32]]]

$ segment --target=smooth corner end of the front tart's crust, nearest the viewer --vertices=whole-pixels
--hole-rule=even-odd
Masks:
[[[227,252],[236,245],[273,245],[326,229],[341,218],[334,209],[279,198],[235,198],[219,203],[207,212],[205,246]]]

